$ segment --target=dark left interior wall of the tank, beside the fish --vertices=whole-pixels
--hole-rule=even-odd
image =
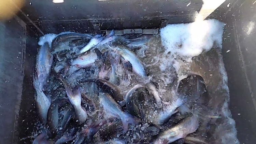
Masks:
[[[0,22],[0,143],[11,143],[22,97],[26,24],[15,17]]]

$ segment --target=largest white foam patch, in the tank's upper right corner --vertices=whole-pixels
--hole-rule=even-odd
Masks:
[[[189,24],[172,24],[161,29],[162,45],[176,58],[191,61],[203,51],[209,51],[214,42],[222,47],[224,23],[215,19],[196,21]]]

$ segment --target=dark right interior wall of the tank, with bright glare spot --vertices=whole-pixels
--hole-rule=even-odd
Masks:
[[[212,16],[226,24],[222,53],[228,75],[229,109],[236,121],[237,137],[241,144],[255,143],[255,0],[226,1]]]

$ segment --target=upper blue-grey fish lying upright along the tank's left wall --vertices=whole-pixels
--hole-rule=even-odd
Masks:
[[[46,89],[45,85],[51,72],[52,62],[53,55],[50,52],[49,44],[45,42],[39,49],[36,63],[36,73],[42,90]]]

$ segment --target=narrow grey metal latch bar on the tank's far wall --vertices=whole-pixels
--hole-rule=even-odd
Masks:
[[[106,30],[106,34],[109,34],[111,30]],[[124,30],[115,30],[115,35],[124,35],[124,34],[157,34],[158,29],[124,29]]]

